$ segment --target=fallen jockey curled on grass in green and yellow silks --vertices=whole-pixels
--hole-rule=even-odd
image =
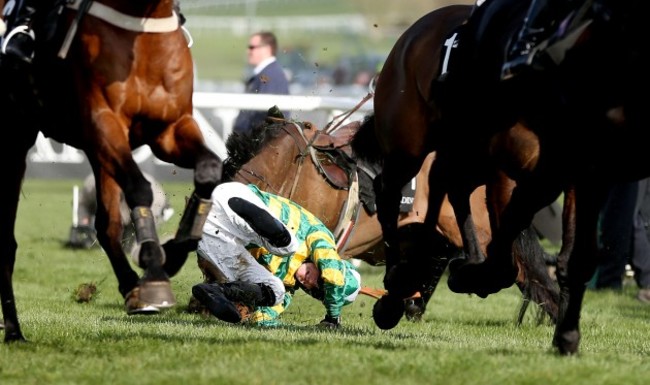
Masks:
[[[223,183],[212,198],[197,249],[199,266],[211,278],[192,288],[194,297],[223,321],[272,326],[301,288],[325,306],[320,325],[338,327],[361,279],[325,225],[254,185]]]

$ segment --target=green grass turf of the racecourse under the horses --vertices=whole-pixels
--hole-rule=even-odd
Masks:
[[[201,279],[192,256],[173,288],[178,306],[155,316],[127,316],[99,248],[64,248],[71,188],[80,181],[27,180],[23,187],[14,287],[29,343],[0,344],[0,383],[29,384],[647,384],[650,307],[622,293],[588,292],[581,354],[551,349],[551,325],[533,312],[515,326],[514,288],[487,299],[451,293],[443,281],[423,322],[392,330],[372,321],[374,300],[343,311],[340,330],[314,327],[324,309],[299,294],[284,327],[233,326],[188,314]],[[164,183],[177,214],[185,182]],[[178,217],[162,233],[173,232]],[[364,283],[381,286],[380,268],[363,265]],[[90,303],[72,294],[99,284]]]

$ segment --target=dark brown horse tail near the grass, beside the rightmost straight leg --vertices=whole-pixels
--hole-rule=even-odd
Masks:
[[[514,254],[520,265],[520,277],[517,285],[523,293],[524,303],[519,312],[518,324],[523,322],[524,313],[529,303],[539,306],[541,313],[537,314],[538,322],[542,322],[544,313],[549,316],[552,323],[557,322],[560,291],[557,283],[551,278],[547,266],[547,254],[539,243],[539,237],[529,227],[517,238],[514,245]]]

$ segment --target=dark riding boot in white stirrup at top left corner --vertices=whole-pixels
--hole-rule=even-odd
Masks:
[[[17,0],[12,10],[11,27],[2,40],[0,52],[26,63],[31,63],[36,48],[36,35],[32,21],[36,13],[36,0]]]

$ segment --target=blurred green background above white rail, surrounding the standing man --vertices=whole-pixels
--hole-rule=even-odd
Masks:
[[[400,34],[458,0],[181,0],[197,90],[243,90],[248,36],[273,31],[294,95],[365,94]]]

